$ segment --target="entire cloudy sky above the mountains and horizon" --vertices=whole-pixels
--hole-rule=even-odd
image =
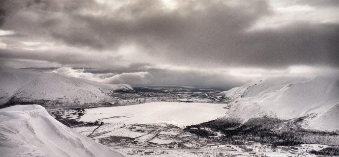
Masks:
[[[0,0],[0,66],[229,89],[339,71],[339,0]]]

